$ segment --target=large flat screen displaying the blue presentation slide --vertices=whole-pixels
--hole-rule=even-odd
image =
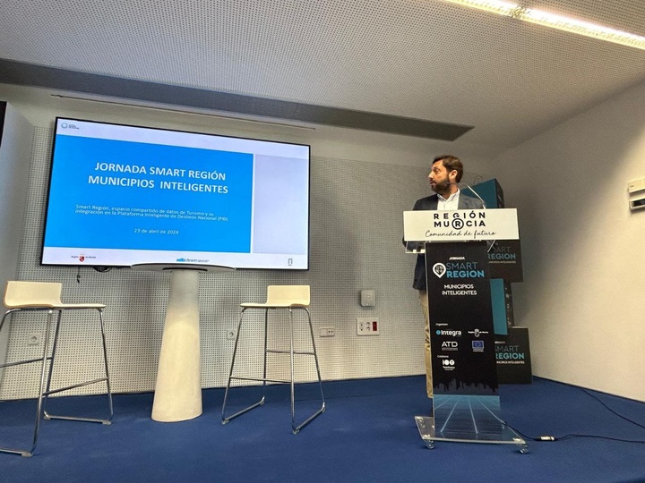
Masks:
[[[42,264],[307,269],[309,153],[58,117]]]

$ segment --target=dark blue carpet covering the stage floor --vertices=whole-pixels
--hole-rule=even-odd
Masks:
[[[150,419],[152,394],[115,396],[111,426],[43,421],[31,458],[0,453],[2,481],[645,481],[645,445],[571,437],[514,445],[437,442],[426,448],[415,415],[426,415],[424,377],[328,382],[327,411],[291,434],[288,387],[227,425],[223,390],[203,391],[204,412],[180,423]],[[592,393],[612,410],[645,424],[645,404]],[[232,405],[249,396],[237,389]],[[315,387],[297,392],[297,411],[314,411]],[[536,378],[502,386],[502,415],[527,436],[586,434],[645,440],[645,429],[615,415],[573,386]],[[98,397],[58,398],[93,405]],[[54,409],[52,407],[52,409]],[[232,407],[235,409],[235,407]],[[33,401],[0,403],[0,445],[29,445]],[[13,438],[8,441],[7,438]]]

